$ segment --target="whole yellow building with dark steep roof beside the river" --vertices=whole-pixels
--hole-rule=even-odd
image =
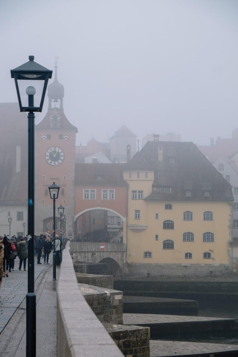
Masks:
[[[231,185],[192,142],[147,142],[123,178],[130,275],[232,271]]]

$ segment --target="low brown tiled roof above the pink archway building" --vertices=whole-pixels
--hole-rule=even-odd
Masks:
[[[75,185],[127,186],[122,171],[125,164],[76,164]],[[101,176],[101,180],[97,180]]]

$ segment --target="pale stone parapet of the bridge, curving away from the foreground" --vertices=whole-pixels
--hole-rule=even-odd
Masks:
[[[69,249],[67,243],[57,287],[57,357],[123,357],[83,297]]]

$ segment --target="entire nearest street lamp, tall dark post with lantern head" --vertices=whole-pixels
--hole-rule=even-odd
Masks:
[[[14,78],[20,111],[28,113],[28,291],[26,295],[26,357],[36,356],[36,295],[34,292],[34,181],[35,181],[35,114],[41,112],[45,92],[52,71],[34,62],[34,56],[29,61],[11,70]],[[33,86],[34,85],[34,86]],[[34,103],[35,99],[35,103]]]

